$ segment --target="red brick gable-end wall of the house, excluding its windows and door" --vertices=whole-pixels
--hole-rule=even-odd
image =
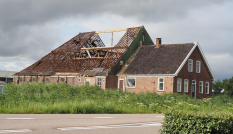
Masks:
[[[212,94],[212,79],[210,73],[208,73],[207,66],[204,64],[200,52],[196,48],[190,55],[189,59],[193,60],[193,72],[188,71],[188,60],[180,70],[179,74],[174,78],[173,92],[177,92],[177,79],[182,79],[181,93],[191,96],[192,80],[196,80],[196,98],[207,98]],[[201,72],[196,72],[196,61],[201,61]],[[188,93],[184,93],[184,79],[188,79]],[[203,81],[203,94],[199,93],[199,81]],[[209,94],[205,94],[205,82],[209,82]]]

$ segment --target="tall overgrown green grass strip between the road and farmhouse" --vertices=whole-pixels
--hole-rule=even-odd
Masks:
[[[213,114],[227,112],[232,116],[233,99],[216,96],[190,99],[186,95],[129,93],[102,90],[97,86],[25,83],[7,84],[0,96],[0,113],[183,113]]]

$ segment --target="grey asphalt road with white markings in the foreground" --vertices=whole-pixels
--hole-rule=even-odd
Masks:
[[[0,133],[158,134],[162,114],[0,114]]]

